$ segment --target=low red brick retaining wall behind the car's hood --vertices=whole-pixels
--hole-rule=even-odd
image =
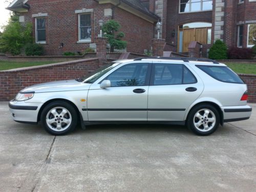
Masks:
[[[82,77],[100,65],[99,59],[93,58],[0,71],[0,101],[13,99],[20,90],[33,84]]]

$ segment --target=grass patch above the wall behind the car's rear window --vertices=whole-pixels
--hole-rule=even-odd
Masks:
[[[254,74],[256,75],[255,63],[225,63],[230,69],[236,73]]]

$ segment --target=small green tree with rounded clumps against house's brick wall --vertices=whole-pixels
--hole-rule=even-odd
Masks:
[[[115,20],[109,20],[102,26],[102,32],[106,33],[104,36],[108,37],[108,42],[110,44],[110,51],[114,52],[114,49],[125,49],[127,42],[121,40],[124,37],[123,32],[115,34],[121,28],[120,24]]]

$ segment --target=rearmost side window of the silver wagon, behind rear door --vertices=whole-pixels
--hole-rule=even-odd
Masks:
[[[199,69],[210,75],[211,77],[229,83],[241,83],[243,80],[231,69],[224,66],[197,66]]]

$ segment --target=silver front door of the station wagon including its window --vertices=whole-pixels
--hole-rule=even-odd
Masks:
[[[111,81],[110,88],[92,85],[87,99],[89,121],[146,121],[149,66],[127,64],[105,78]]]

